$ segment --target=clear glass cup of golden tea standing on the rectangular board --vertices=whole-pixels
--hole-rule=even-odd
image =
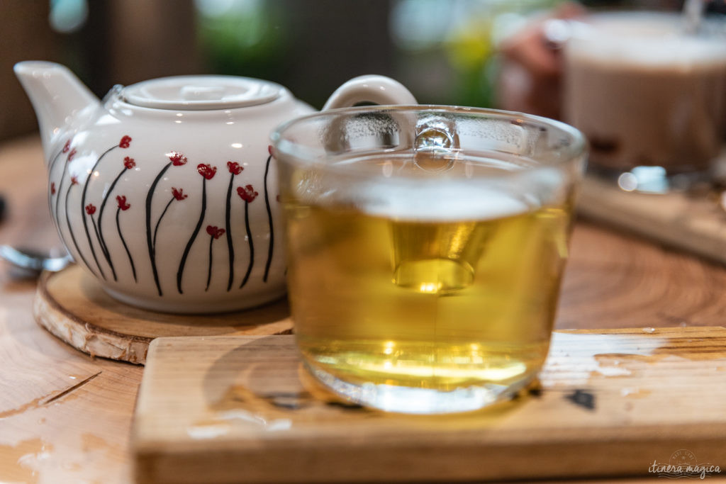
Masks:
[[[550,343],[582,134],[462,107],[358,107],[272,135],[306,368],[351,401],[433,414],[527,385]]]

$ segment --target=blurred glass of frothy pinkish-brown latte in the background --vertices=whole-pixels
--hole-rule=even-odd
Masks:
[[[655,12],[591,15],[574,25],[563,115],[589,139],[593,168],[708,171],[726,131],[724,25],[704,22],[687,34],[679,14]]]

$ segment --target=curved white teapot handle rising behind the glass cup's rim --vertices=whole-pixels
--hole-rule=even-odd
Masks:
[[[359,75],[335,89],[322,110],[350,107],[359,102],[418,104],[413,94],[399,81],[384,75]]]

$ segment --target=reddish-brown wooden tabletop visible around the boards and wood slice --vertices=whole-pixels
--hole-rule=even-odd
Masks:
[[[38,138],[0,145],[0,173],[0,243],[60,246]],[[556,327],[722,326],[725,289],[726,268],[579,221]],[[143,367],[49,335],[33,321],[34,290],[0,266],[0,482],[127,483]]]

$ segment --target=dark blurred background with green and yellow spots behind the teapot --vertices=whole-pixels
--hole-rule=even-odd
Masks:
[[[30,59],[68,65],[99,97],[116,83],[219,73],[276,81],[319,108],[348,78],[378,73],[404,83],[422,103],[498,107],[502,42],[561,3],[1,0],[0,139],[37,129],[12,73],[15,62]],[[582,4],[677,10],[682,0]]]

